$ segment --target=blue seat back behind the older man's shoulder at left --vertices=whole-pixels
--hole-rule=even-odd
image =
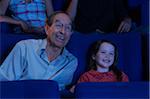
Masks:
[[[44,36],[36,36],[31,34],[13,33],[9,28],[9,24],[0,23],[0,64],[4,61],[15,44],[24,39],[39,39]]]

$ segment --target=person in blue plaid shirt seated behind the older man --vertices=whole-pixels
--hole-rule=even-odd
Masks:
[[[10,16],[6,15],[7,10],[11,12]],[[23,32],[26,33],[45,34],[45,20],[52,13],[51,0],[0,1],[0,22],[21,26]],[[16,32],[18,31],[17,28]]]

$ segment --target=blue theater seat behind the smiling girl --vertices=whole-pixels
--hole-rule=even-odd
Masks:
[[[114,42],[119,50],[118,68],[123,70],[130,81],[142,80],[141,64],[141,35],[137,32],[125,34],[99,34],[91,33],[88,35],[75,32],[68,45],[68,50],[78,58],[78,67],[74,74],[73,84],[76,83],[81,74],[87,68],[87,51],[89,46],[97,40],[106,39]]]

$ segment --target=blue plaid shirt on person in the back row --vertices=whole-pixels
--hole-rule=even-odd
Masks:
[[[32,27],[45,25],[45,0],[32,0],[31,3],[26,3],[25,0],[10,0],[9,9],[15,19],[21,19]]]

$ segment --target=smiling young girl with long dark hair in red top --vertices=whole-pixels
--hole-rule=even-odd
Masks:
[[[128,82],[128,76],[118,70],[117,47],[105,40],[95,42],[90,49],[89,71],[78,80],[80,82]]]

